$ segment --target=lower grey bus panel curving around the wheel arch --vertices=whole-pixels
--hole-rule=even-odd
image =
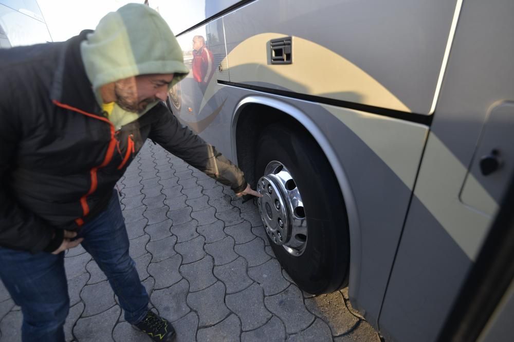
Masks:
[[[235,157],[225,144],[233,136],[232,115],[237,105],[250,95],[278,100],[301,111],[328,140],[328,146],[321,146],[322,149],[335,152],[337,163],[344,169],[351,187],[355,200],[352,207],[357,208],[352,214],[357,216],[358,227],[350,227],[351,253],[355,254],[351,257],[350,295],[353,304],[376,327],[427,127],[381,115],[219,85],[210,102],[223,104],[223,108],[201,135],[210,143],[221,146],[220,151],[228,157]],[[241,115],[246,115],[244,110]],[[264,236],[264,229],[262,233]],[[356,241],[359,243],[354,243]]]

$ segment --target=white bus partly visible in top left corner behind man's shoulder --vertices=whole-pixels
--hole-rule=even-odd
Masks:
[[[0,0],[0,49],[51,41],[36,0]]]

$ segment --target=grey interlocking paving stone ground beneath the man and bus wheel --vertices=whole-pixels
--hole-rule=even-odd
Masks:
[[[147,142],[118,183],[130,254],[177,341],[374,341],[347,289],[313,296],[280,267],[252,201]],[[66,252],[67,341],[150,341],[134,330],[82,248]],[[0,341],[22,313],[0,283]]]

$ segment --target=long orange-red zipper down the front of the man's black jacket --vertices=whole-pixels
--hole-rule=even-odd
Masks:
[[[61,107],[61,108],[67,109],[67,110],[71,110],[71,111],[74,111],[74,112],[77,112],[77,113],[80,113],[80,114],[83,114],[83,115],[86,115],[86,116],[89,116],[89,117],[92,117],[92,118],[95,118],[98,120],[102,120],[103,122],[109,124],[109,128],[111,128],[111,140],[109,141],[109,146],[107,147],[107,152],[105,153],[103,162],[102,162],[102,164],[95,166],[94,168],[92,168],[89,171],[89,174],[91,176],[91,186],[89,187],[89,191],[80,198],[80,205],[82,206],[82,217],[84,217],[84,216],[87,216],[87,214],[89,214],[89,205],[87,204],[87,196],[94,193],[98,187],[97,171],[98,171],[98,169],[107,166],[109,163],[111,163],[111,160],[113,159],[113,154],[114,154],[114,150],[116,148],[116,142],[117,142],[116,137],[115,137],[116,130],[114,128],[114,125],[105,117],[100,117],[95,114],[87,113],[78,108],[62,104],[58,100],[52,100],[52,102],[54,105],[56,105],[58,107]],[[75,223],[77,223],[77,225],[79,227],[84,224],[84,219],[82,217],[75,219]]]

